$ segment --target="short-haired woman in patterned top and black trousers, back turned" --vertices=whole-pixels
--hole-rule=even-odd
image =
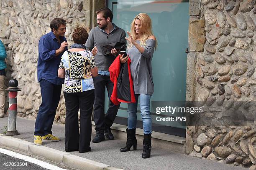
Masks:
[[[87,31],[77,27],[73,32],[74,44],[61,57],[58,76],[65,78],[64,97],[66,102],[65,151],[79,153],[91,150],[92,107],[94,103],[93,77],[98,74],[92,52],[84,46],[88,38]],[[78,127],[78,110],[80,109],[80,134]]]

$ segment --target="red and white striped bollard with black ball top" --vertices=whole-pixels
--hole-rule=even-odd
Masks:
[[[6,89],[9,91],[9,117],[8,117],[8,129],[6,136],[20,135],[16,130],[17,120],[17,94],[20,89],[18,88],[18,80],[11,79],[9,81],[9,87]]]

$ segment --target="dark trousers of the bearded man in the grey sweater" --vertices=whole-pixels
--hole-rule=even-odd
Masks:
[[[113,92],[114,84],[108,75],[98,75],[93,77],[95,88],[94,102],[94,122],[96,133],[104,133],[105,128],[110,128],[115,120],[120,105],[114,105],[110,97]],[[108,98],[110,100],[109,108],[106,114],[104,113],[105,103],[105,87],[108,90]],[[108,101],[106,101],[108,102]]]

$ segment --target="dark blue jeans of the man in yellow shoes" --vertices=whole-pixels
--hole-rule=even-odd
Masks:
[[[52,134],[56,109],[59,104],[62,85],[54,85],[47,80],[40,80],[42,103],[39,107],[35,123],[34,135],[44,136]]]

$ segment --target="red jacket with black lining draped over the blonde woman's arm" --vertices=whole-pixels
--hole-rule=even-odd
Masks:
[[[131,59],[128,58],[128,61],[121,65],[118,56],[108,69],[110,72],[110,80],[114,83],[110,100],[115,105],[119,105],[120,102],[136,102],[130,64]]]

